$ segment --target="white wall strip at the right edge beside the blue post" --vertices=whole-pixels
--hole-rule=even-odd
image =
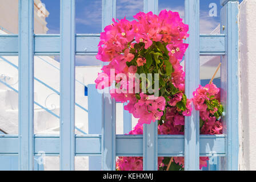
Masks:
[[[239,169],[256,170],[256,1],[239,5]]]

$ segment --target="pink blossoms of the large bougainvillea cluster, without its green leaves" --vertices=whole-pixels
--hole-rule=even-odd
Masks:
[[[185,89],[185,72],[182,70],[180,61],[188,46],[188,44],[183,43],[183,39],[189,36],[187,34],[189,27],[187,24],[182,23],[182,19],[179,18],[177,12],[166,10],[162,10],[159,15],[155,15],[152,12],[146,14],[139,12],[134,18],[137,20],[129,21],[124,18],[121,20],[117,19],[116,21],[113,19],[113,23],[106,26],[105,32],[101,33],[98,55],[96,57],[101,61],[110,63],[103,66],[103,72],[99,73],[97,80],[95,80],[96,88],[104,89],[114,81],[116,83],[122,82],[123,80],[115,80],[115,76],[118,73],[129,77],[129,73],[136,73],[138,67],[146,64],[145,57],[138,57],[135,61],[136,65],[127,65],[127,63],[130,63],[135,58],[134,53],[131,53],[131,49],[134,48],[136,43],[142,42],[145,44],[145,49],[149,49],[153,42],[160,42],[163,45],[167,45],[169,61],[174,68],[169,81],[180,91],[177,94],[177,98],[170,97],[170,99],[174,100],[172,101],[174,105],[181,101],[180,98]],[[114,77],[111,77],[111,69],[115,70]],[[129,88],[129,91],[134,91],[135,84],[134,82],[132,84],[132,89],[130,88],[131,82],[129,81],[121,85],[125,85],[125,89]],[[123,87],[115,88],[115,92],[110,92],[111,96],[116,101],[128,102],[125,110],[132,113],[135,118],[139,118],[139,123],[157,121],[165,114],[163,111],[167,102],[164,97],[153,98],[154,96],[147,96],[146,93],[139,93],[141,98],[138,98],[134,92],[122,93]],[[183,111],[183,115],[189,115],[190,111],[190,102],[187,102],[187,109]]]

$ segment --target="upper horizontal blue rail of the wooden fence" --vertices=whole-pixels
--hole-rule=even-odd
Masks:
[[[90,55],[97,54],[99,34],[77,34],[76,54]],[[224,35],[200,36],[200,55],[224,55]],[[59,35],[35,35],[35,55],[59,55]],[[0,35],[0,55],[18,55],[18,36]]]

